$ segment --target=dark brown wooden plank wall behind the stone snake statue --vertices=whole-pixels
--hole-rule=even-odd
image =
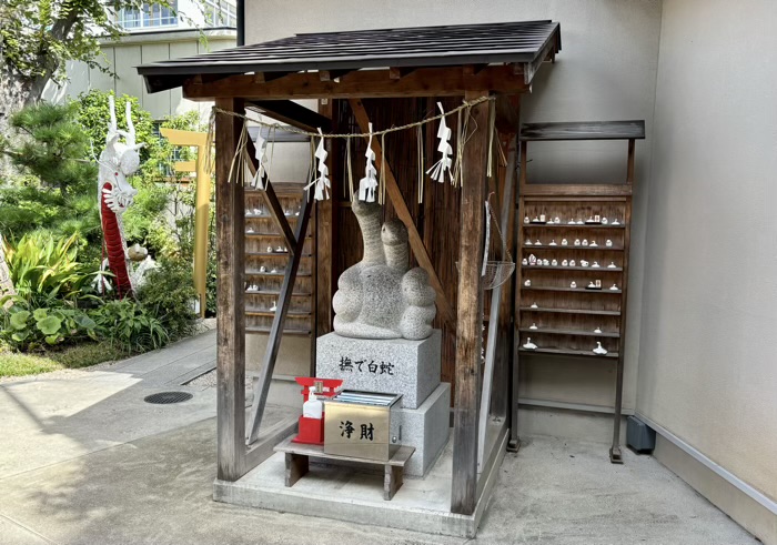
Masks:
[[[442,100],[444,108],[453,109],[461,104],[461,99],[447,98]],[[364,107],[370,115],[375,130],[386,127],[396,127],[412,123],[420,119],[437,113],[436,101],[431,99],[374,99],[364,100]],[[359,129],[353,120],[351,109],[346,101],[335,101],[336,123],[341,132],[357,132]],[[455,115],[447,118],[448,127],[453,127],[454,137],[452,143],[456,149],[455,138]],[[440,159],[437,148],[437,122],[427,123],[424,127],[424,169],[434,164]],[[418,204],[417,199],[417,150],[416,130],[410,129],[386,135],[385,153],[386,159],[396,178],[396,182],[405,196],[411,214],[415,219],[415,226],[424,240],[430,258],[434,263],[440,280],[445,289],[448,301],[454,307],[456,293],[458,290],[458,272],[456,261],[458,260],[458,212],[461,195],[458,190],[448,183],[441,184],[425,178],[425,191],[423,203]],[[361,139],[354,139],[351,143],[351,160],[353,171],[354,190],[359,189],[359,180],[364,176],[364,152],[366,143]],[[336,192],[336,205],[341,213],[336,220],[336,231],[339,238],[335,241],[333,256],[333,274],[339,277],[349,266],[357,263],[362,259],[362,236],[355,216],[350,212],[350,201],[345,194],[347,190],[346,152],[343,145],[340,150],[340,158],[335,162],[336,166],[333,175],[342,181],[340,190]],[[379,171],[381,165],[376,164]],[[340,184],[339,184],[340,185]],[[387,196],[386,196],[387,200]],[[384,206],[384,220],[394,218],[395,213],[390,202]],[[412,259],[412,266],[417,263]],[[331,302],[320,301],[319,304],[331,304]],[[445,324],[438,316],[435,319],[435,327],[443,331],[442,345],[442,376],[444,382],[450,382],[455,388],[455,354],[456,354],[456,329],[454,323]],[[452,388],[453,390],[453,388]],[[453,404],[454,400],[451,400]]]

